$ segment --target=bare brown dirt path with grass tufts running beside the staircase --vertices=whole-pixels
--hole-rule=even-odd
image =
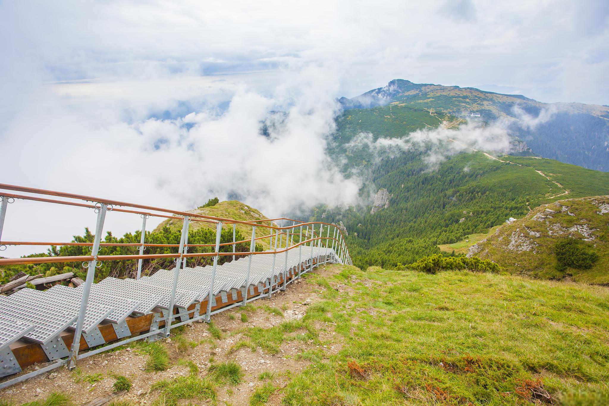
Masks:
[[[314,273],[325,275],[329,271],[325,267],[316,268]],[[124,397],[135,404],[152,404],[158,393],[150,392],[152,383],[161,379],[174,379],[180,376],[188,376],[188,366],[178,365],[180,359],[191,360],[199,368],[199,376],[208,374],[212,362],[225,362],[234,360],[241,365],[245,376],[238,385],[219,385],[216,388],[217,400],[222,405],[245,405],[256,387],[268,382],[258,378],[264,371],[272,371],[270,381],[275,387],[284,387],[289,382],[290,375],[299,373],[309,361],[302,359],[299,355],[305,351],[319,348],[312,343],[302,341],[289,341],[280,346],[278,354],[269,354],[260,348],[255,351],[248,347],[232,351],[231,347],[238,343],[244,336],[247,327],[269,328],[283,323],[292,318],[301,318],[306,307],[319,300],[319,285],[306,282],[306,279],[298,279],[288,285],[286,292],[279,292],[270,299],[259,299],[252,302],[254,310],[244,311],[240,307],[227,310],[212,317],[214,324],[219,327],[224,337],[220,340],[211,338],[206,323],[192,323],[186,326],[181,334],[183,338],[177,340],[172,334],[172,340],[165,340],[164,346],[171,357],[171,367],[166,371],[145,371],[147,355],[141,354],[137,349],[122,347],[119,351],[102,352],[79,362],[76,371],[68,371],[66,368],[58,368],[51,373],[18,383],[12,387],[0,390],[0,399],[14,404],[37,401],[48,396],[53,391],[68,394],[78,404],[84,404],[96,397],[112,391],[114,374],[127,376],[132,380],[132,388]],[[283,314],[278,315],[269,312],[264,307],[281,309]],[[246,313],[248,320],[241,321],[241,313]],[[319,340],[327,343],[323,350],[328,354],[337,353],[340,343],[333,341],[334,333],[329,326],[315,326],[319,329]],[[180,345],[186,342],[187,345]],[[198,345],[191,347],[191,345]],[[28,371],[38,368],[32,366]],[[97,376],[99,382],[88,383],[83,377]],[[78,379],[80,377],[80,380]],[[271,399],[272,400],[272,399]],[[205,402],[203,402],[205,403]],[[270,403],[272,404],[272,402]]]

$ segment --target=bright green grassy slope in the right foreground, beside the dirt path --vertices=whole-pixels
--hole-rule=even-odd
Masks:
[[[325,322],[342,349],[303,354],[313,364],[287,385],[284,404],[528,405],[526,381],[537,379],[561,404],[609,402],[606,287],[333,270],[309,279],[323,301],[304,321]]]

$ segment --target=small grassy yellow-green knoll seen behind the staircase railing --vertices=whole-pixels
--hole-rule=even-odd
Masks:
[[[245,205],[245,203],[241,203],[241,201],[238,201],[238,200],[220,201],[219,203],[217,203],[216,206],[189,210],[189,212],[196,213],[196,214],[213,215],[215,217],[224,217],[227,219],[241,220],[241,221],[262,220],[262,219],[268,218],[268,217],[265,217],[264,215],[262,215],[262,213],[259,212],[258,210],[254,209],[248,205]],[[269,222],[261,223],[261,224],[269,225]],[[160,225],[157,226],[155,231],[160,230],[164,226],[169,226],[173,231],[180,231],[182,224],[181,224],[180,220],[165,220],[163,223],[161,223]],[[203,222],[191,222],[189,227],[191,229],[197,229],[197,228],[201,228],[201,227],[214,229],[214,230],[216,229],[216,225],[214,225],[212,223],[203,223]],[[233,225],[224,225],[223,228],[233,229]],[[249,239],[250,236],[252,236],[252,227],[238,224],[236,228],[239,231],[241,231],[241,235],[244,236],[245,239]],[[268,236],[268,235],[269,235],[269,231],[267,231],[266,228],[262,228],[262,227],[256,228],[256,237],[262,237],[262,236]],[[265,250],[267,250],[269,248],[268,239],[257,240],[256,243],[261,244]]]

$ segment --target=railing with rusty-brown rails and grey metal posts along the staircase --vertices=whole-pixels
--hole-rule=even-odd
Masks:
[[[32,245],[51,245],[51,246],[91,247],[90,255],[0,258],[0,265],[45,264],[45,263],[62,263],[62,262],[81,262],[81,261],[83,261],[83,266],[84,266],[85,262],[88,263],[88,265],[86,266],[87,275],[85,278],[83,295],[82,295],[82,300],[80,303],[79,316],[78,316],[78,320],[77,320],[77,324],[76,324],[76,328],[75,328],[74,338],[72,339],[72,346],[69,351],[69,353],[70,353],[69,359],[66,359],[60,363],[54,364],[54,366],[52,366],[52,368],[55,368],[59,365],[65,365],[65,364],[67,364],[70,368],[72,368],[76,365],[77,360],[82,359],[83,357],[86,357],[88,355],[96,354],[97,352],[104,351],[104,349],[99,348],[94,351],[90,351],[86,354],[79,355],[80,337],[82,335],[82,327],[83,327],[85,312],[86,312],[86,309],[88,306],[88,296],[91,291],[91,285],[93,284],[93,279],[95,277],[97,262],[100,262],[100,261],[129,261],[129,260],[136,259],[136,260],[138,260],[137,278],[139,279],[140,271],[141,271],[141,267],[142,267],[142,261],[144,259],[174,259],[175,264],[176,264],[175,269],[174,269],[175,274],[174,274],[174,278],[173,278],[173,287],[171,290],[171,298],[169,300],[169,306],[168,306],[168,309],[174,309],[175,294],[177,292],[178,275],[180,273],[180,268],[186,267],[186,259],[195,258],[195,257],[213,257],[213,269],[211,271],[209,297],[206,299],[207,300],[207,310],[204,315],[200,315],[200,316],[192,319],[192,320],[205,319],[205,321],[209,321],[212,314],[225,309],[225,308],[222,308],[220,310],[216,310],[215,312],[211,311],[211,307],[212,307],[211,304],[213,302],[214,275],[216,273],[217,262],[221,256],[233,256],[233,259],[235,257],[247,256],[250,259],[248,262],[248,267],[247,267],[247,278],[245,279],[246,292],[245,292],[245,295],[243,296],[242,304],[246,304],[248,301],[247,288],[249,286],[251,260],[252,260],[252,256],[254,256],[254,255],[271,254],[273,256],[273,270],[274,270],[276,254],[287,253],[287,251],[298,248],[298,250],[299,250],[298,277],[300,277],[300,272],[301,272],[300,268],[302,266],[301,264],[303,264],[302,247],[303,246],[311,247],[311,259],[310,260],[306,259],[306,264],[310,264],[309,269],[312,270],[312,268],[314,267],[313,248],[314,247],[322,248],[323,247],[322,244],[325,241],[325,248],[331,248],[332,251],[329,251],[329,252],[332,252],[332,256],[334,257],[334,259],[341,262],[342,264],[353,264],[353,262],[351,261],[351,256],[350,256],[349,250],[346,245],[345,236],[343,235],[339,226],[337,226],[335,224],[331,224],[331,223],[303,222],[301,220],[287,219],[285,217],[281,217],[278,219],[260,219],[260,220],[242,221],[242,220],[225,219],[223,217],[215,217],[215,216],[210,216],[210,215],[195,214],[195,213],[185,212],[185,211],[174,211],[174,210],[170,210],[170,209],[157,208],[154,206],[126,203],[123,201],[107,200],[107,199],[90,197],[90,196],[85,196],[85,195],[69,194],[69,193],[57,192],[57,191],[48,191],[48,190],[44,190],[44,189],[34,189],[31,187],[15,186],[15,185],[9,185],[9,184],[0,184],[0,189],[7,189],[10,191],[26,192],[26,193],[38,194],[38,195],[51,195],[51,196],[70,198],[70,199],[76,199],[76,200],[84,200],[84,201],[94,203],[93,205],[91,205],[88,203],[80,203],[80,202],[66,201],[66,200],[56,200],[56,199],[40,197],[40,196],[35,196],[35,195],[29,196],[29,195],[10,194],[7,192],[0,191],[0,200],[1,200],[1,205],[0,205],[0,248],[5,245],[30,245],[30,246],[32,246]],[[1,240],[2,228],[4,226],[4,219],[5,219],[5,215],[7,213],[7,205],[8,205],[8,203],[12,203],[12,201],[10,201],[10,200],[14,201],[14,199],[32,200],[32,201],[40,201],[43,203],[53,203],[53,204],[59,204],[59,205],[68,205],[68,206],[77,206],[77,207],[95,209],[95,211],[97,213],[97,223],[96,223],[96,229],[95,229],[95,234],[94,234],[94,242],[2,241]],[[115,206],[124,206],[126,208],[117,208]],[[136,210],[136,209],[150,210],[150,212]],[[101,241],[101,236],[102,236],[103,229],[104,229],[105,215],[107,214],[107,212],[111,212],[111,211],[126,212],[126,213],[130,213],[130,214],[141,215],[141,217],[143,218],[143,223],[142,223],[142,229],[141,229],[141,236],[140,236],[141,242],[140,243],[107,243],[107,242]],[[164,219],[182,220],[180,243],[179,244],[146,243],[144,241],[145,237],[146,237],[146,219],[150,216],[161,217]],[[292,225],[283,226],[283,227],[280,227],[278,225],[273,225],[273,222],[275,222],[277,220],[290,221],[290,222],[292,222]],[[216,243],[215,244],[189,244],[188,243],[188,230],[189,230],[189,223],[191,221],[215,223],[216,224]],[[270,225],[263,224],[265,222],[270,222]],[[220,243],[220,236],[222,234],[222,224],[223,223],[233,224],[233,241],[232,242]],[[236,224],[251,226],[252,227],[252,238],[236,241],[235,240],[236,233],[235,233],[235,228],[234,228],[234,225],[236,225]],[[315,231],[315,227],[318,225],[319,225],[319,231]],[[326,229],[323,229],[324,226],[327,226]],[[266,236],[256,237],[256,233],[255,233],[256,227],[262,227],[265,229],[269,229],[271,231],[271,233]],[[305,236],[304,240],[303,240],[303,227],[306,227],[306,236]],[[299,233],[294,232],[294,230],[297,228],[300,229]],[[332,236],[330,236],[330,228],[334,229]],[[309,229],[311,229],[310,237],[309,237]],[[323,236],[322,231],[326,232],[325,237]],[[299,235],[299,238],[298,238],[298,242],[294,243],[294,235],[296,235],[296,234]],[[278,240],[280,240],[283,236],[285,236],[285,247],[280,246],[278,249],[278,247],[277,247]],[[292,237],[291,242],[290,242],[290,236]],[[256,251],[255,241],[261,240],[261,239],[266,239],[266,238],[270,238],[269,247],[271,248],[271,250]],[[275,239],[274,249],[273,249],[273,244],[272,244],[273,238]],[[235,248],[236,244],[247,243],[247,242],[250,242],[249,251],[235,252],[234,248]],[[230,245],[233,246],[232,252],[220,252],[221,247],[228,247]],[[139,254],[99,255],[100,247],[134,247],[134,248],[139,248]],[[143,250],[145,247],[178,247],[178,252],[169,253],[169,254],[143,254]],[[187,251],[188,251],[188,248],[190,248],[190,247],[214,247],[214,250],[213,250],[213,252],[208,252],[208,253],[188,253]],[[328,251],[326,251],[326,252],[328,252]],[[286,257],[286,259],[285,259],[286,263],[284,265],[285,273],[283,275],[283,287],[280,287],[279,284],[277,284],[276,285],[277,289],[275,291],[273,291],[272,286],[270,286],[269,292],[268,292],[269,296],[273,292],[276,292],[277,290],[286,289],[287,254],[285,257]],[[307,254],[305,254],[305,258],[306,257],[308,257]],[[333,261],[334,261],[334,259],[333,259]],[[319,263],[317,265],[319,265]],[[305,265],[305,267],[306,267],[306,265]],[[272,281],[272,279],[271,279],[271,281]],[[259,296],[257,296],[257,297],[264,297],[264,295],[266,295],[266,293],[264,293],[264,290],[262,290],[262,292],[259,292]],[[253,299],[255,299],[255,298],[253,298]],[[253,300],[253,299],[249,299],[249,300]],[[202,302],[203,301],[201,301],[201,303]],[[237,306],[237,305],[233,304],[231,306]],[[197,310],[197,312],[199,312],[199,310]],[[164,315],[163,317],[158,319],[158,320],[164,320],[165,327],[164,327],[163,334],[165,336],[169,335],[169,332],[173,327],[177,327],[177,326],[180,326],[181,324],[186,323],[185,321],[183,321],[182,323],[177,323],[177,324],[172,325],[172,321],[177,317],[178,316],[174,315],[173,311],[170,311],[170,312],[167,312],[166,315]],[[121,343],[126,343],[128,341],[136,340],[136,339],[142,338],[142,337],[148,337],[148,336],[152,337],[153,335],[158,335],[158,332],[151,331],[144,335],[139,335],[138,337],[128,338],[128,340],[121,341]],[[113,343],[112,345],[105,347],[105,349],[113,348],[114,346],[118,346],[118,345],[120,345],[120,343]],[[49,368],[43,368],[43,369],[40,369],[40,371],[46,371],[48,369]],[[26,376],[35,376],[36,374],[39,374],[40,371],[33,371],[32,373],[26,374]],[[26,376],[16,378],[15,382],[18,382],[19,380],[24,379],[24,377],[26,377]],[[0,383],[0,387],[4,387],[7,384],[9,384],[9,383],[8,382]]]

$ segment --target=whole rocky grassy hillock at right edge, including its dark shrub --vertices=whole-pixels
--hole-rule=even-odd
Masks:
[[[542,205],[476,243],[471,255],[512,273],[609,284],[609,196]]]

